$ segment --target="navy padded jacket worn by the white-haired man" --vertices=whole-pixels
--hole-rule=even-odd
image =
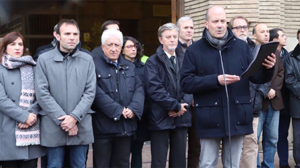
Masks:
[[[92,116],[95,138],[131,136],[137,130],[137,119],[143,114],[144,89],[132,62],[119,56],[118,67],[102,55],[94,57],[97,85]],[[123,109],[135,116],[125,119]]]

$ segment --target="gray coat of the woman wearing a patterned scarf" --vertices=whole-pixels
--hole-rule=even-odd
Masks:
[[[0,161],[29,160],[45,155],[45,148],[40,145],[16,146],[16,121],[24,123],[29,113],[38,114],[40,110],[36,101],[27,110],[22,110],[20,93],[20,69],[0,65]]]

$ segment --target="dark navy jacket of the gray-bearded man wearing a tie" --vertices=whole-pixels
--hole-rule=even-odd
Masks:
[[[175,52],[179,61],[179,71],[181,71],[183,55],[178,54],[178,48]],[[149,111],[150,130],[191,126],[190,104],[193,96],[184,94],[181,89],[178,93],[176,92],[176,83],[165,57],[167,54],[160,45],[145,65],[146,103]],[[189,105],[187,111],[180,117],[170,117],[168,112],[171,110],[178,112],[181,103]]]

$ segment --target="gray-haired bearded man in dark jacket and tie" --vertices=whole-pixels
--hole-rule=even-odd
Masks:
[[[151,131],[151,167],[186,167],[187,127],[191,126],[192,95],[179,85],[183,55],[178,54],[179,29],[173,23],[158,29],[161,45],[145,65],[145,86]],[[170,142],[170,143],[169,143]]]

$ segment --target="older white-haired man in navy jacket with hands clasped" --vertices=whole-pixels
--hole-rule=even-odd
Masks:
[[[120,56],[122,33],[105,30],[101,42],[103,55],[94,57],[93,167],[129,167],[131,135],[143,113],[144,89],[135,65]]]

